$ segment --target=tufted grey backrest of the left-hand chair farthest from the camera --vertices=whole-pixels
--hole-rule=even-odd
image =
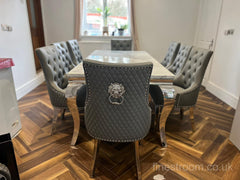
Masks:
[[[76,39],[68,40],[67,46],[73,63],[78,65],[80,62],[82,62],[82,54],[78,45],[78,41]]]

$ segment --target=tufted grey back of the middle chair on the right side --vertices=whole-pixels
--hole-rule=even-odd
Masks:
[[[177,57],[173,61],[172,65],[169,66],[168,70],[175,75],[178,74],[182,70],[191,49],[192,49],[192,46],[181,44],[180,49],[177,53]]]

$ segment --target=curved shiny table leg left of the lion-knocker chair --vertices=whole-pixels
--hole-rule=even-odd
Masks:
[[[73,137],[71,141],[72,146],[76,144],[79,130],[80,130],[80,116],[79,116],[77,101],[76,101],[76,94],[79,87],[81,87],[80,83],[70,81],[65,92],[68,109],[72,114],[73,123],[74,123]]]

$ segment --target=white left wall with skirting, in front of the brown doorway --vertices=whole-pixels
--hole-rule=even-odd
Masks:
[[[19,99],[43,80],[35,70],[26,1],[0,0],[0,24],[13,27],[12,32],[0,30],[0,57],[13,58],[13,78]]]

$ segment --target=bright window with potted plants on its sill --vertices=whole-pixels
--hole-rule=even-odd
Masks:
[[[85,36],[102,36],[107,27],[111,36],[130,36],[129,0],[83,0],[81,32]],[[105,28],[106,29],[106,28]],[[121,31],[121,30],[120,30]]]

